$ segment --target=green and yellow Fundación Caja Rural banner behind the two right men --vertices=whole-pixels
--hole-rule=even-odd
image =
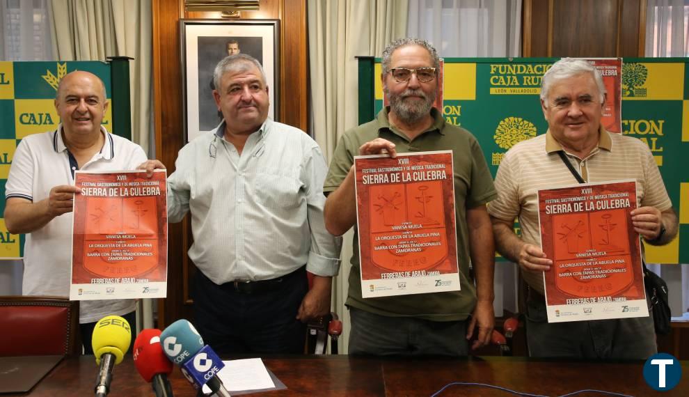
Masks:
[[[493,177],[509,148],[548,130],[539,93],[541,79],[555,61],[445,59],[443,116],[477,137]],[[674,242],[664,247],[647,244],[649,263],[689,263],[689,172],[682,172],[680,164],[683,156],[689,157],[687,61],[623,59],[622,134],[647,143],[680,218]],[[381,65],[380,59],[370,58],[359,63],[358,120],[365,123],[383,107]]]

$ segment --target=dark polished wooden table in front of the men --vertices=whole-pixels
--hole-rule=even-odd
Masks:
[[[664,393],[654,391],[644,382],[642,361],[596,363],[522,357],[378,359],[347,355],[264,357],[263,361],[287,385],[287,390],[269,391],[266,396],[430,396],[450,382],[488,383],[546,396],[561,396],[580,389],[615,391],[630,396],[689,396],[689,361],[682,361],[683,379],[679,385]],[[97,371],[93,356],[65,359],[30,395],[93,395]],[[196,396],[177,368],[171,375],[171,383],[175,396]],[[440,394],[510,395],[505,391],[462,385],[448,387]],[[150,384],[138,375],[131,357],[116,366],[109,396],[153,396]]]

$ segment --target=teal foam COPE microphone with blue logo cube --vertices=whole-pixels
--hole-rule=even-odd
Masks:
[[[160,336],[163,352],[174,364],[180,366],[182,375],[199,390],[205,384],[211,394],[230,397],[217,373],[225,366],[223,361],[187,320],[177,320],[169,325]]]

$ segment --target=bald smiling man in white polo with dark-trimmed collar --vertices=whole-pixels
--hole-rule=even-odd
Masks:
[[[10,233],[26,233],[24,295],[68,296],[72,253],[74,171],[136,169],[146,161],[141,146],[110,134],[102,125],[109,102],[97,76],[71,72],[60,81],[57,130],[22,139],[6,185],[5,222]],[[103,316],[123,316],[136,327],[132,299],[82,301],[81,338],[93,354],[93,326]]]

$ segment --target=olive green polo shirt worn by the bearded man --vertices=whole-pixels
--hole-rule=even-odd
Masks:
[[[496,198],[497,193],[486,159],[475,137],[464,128],[445,123],[437,109],[431,109],[431,116],[435,120],[433,125],[411,141],[402,132],[390,126],[388,108],[383,108],[375,120],[345,132],[335,148],[323,190],[333,192],[337,189],[354,164],[354,156],[358,155],[359,147],[376,138],[395,143],[397,153],[452,150],[461,290],[364,299],[361,297],[358,231],[355,224],[349,296],[345,302],[347,306],[381,316],[412,316],[434,321],[454,321],[466,319],[476,305],[476,289],[468,277],[469,242],[466,209],[484,205]]]

